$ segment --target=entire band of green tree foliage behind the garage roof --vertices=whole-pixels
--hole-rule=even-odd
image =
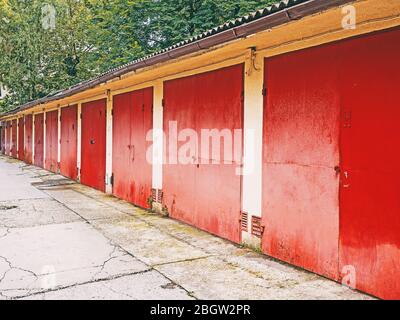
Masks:
[[[0,111],[158,51],[273,0],[0,0]],[[55,24],[46,26],[48,8]],[[51,22],[51,21],[50,21]]]

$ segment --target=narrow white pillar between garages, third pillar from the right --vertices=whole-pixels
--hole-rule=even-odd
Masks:
[[[112,186],[112,158],[113,158],[113,96],[107,90],[107,111],[106,111],[106,193],[113,193]]]

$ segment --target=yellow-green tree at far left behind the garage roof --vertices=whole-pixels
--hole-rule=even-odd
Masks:
[[[11,90],[8,108],[98,72],[90,63],[91,19],[79,0],[53,0],[50,7],[44,0],[1,0],[0,82]]]

